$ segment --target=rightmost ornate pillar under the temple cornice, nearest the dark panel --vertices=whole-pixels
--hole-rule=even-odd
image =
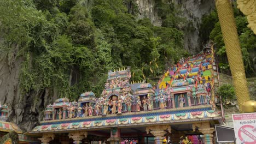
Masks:
[[[193,123],[193,131],[195,131],[196,127],[199,128],[198,130],[203,134],[203,141],[205,142],[205,144],[213,144],[213,132],[215,129],[210,128],[210,123]]]

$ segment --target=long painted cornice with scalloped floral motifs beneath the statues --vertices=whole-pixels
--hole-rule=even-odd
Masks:
[[[49,131],[72,131],[77,129],[98,129],[109,127],[132,127],[138,125],[155,125],[163,123],[188,123],[193,121],[217,120],[223,123],[220,112],[211,109],[211,105],[179,107],[174,109],[156,110],[151,113],[135,112],[123,113],[122,116],[107,115],[106,117],[82,117],[76,119],[62,119],[40,122],[41,125],[34,128],[30,133],[45,133]]]

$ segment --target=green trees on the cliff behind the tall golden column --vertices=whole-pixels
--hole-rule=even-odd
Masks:
[[[255,77],[255,68],[253,66],[252,56],[250,52],[255,52],[256,35],[253,34],[251,29],[247,27],[248,22],[246,17],[236,8],[234,3],[234,15],[237,26],[237,33],[241,43],[241,51],[243,57],[243,63],[245,65],[245,71],[247,77]],[[217,56],[219,57],[219,68],[222,73],[229,73],[228,58],[226,56],[226,49],[223,40],[220,23],[218,21],[217,11],[214,10],[210,15],[203,16],[201,25],[201,37],[203,41],[207,41],[208,38],[214,41],[217,47]]]

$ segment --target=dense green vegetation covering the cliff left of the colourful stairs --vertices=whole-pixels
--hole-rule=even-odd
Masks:
[[[163,27],[138,20],[136,4],[127,0],[1,1],[0,55],[24,59],[23,94],[47,88],[71,100],[90,90],[99,95],[110,69],[131,66],[133,80],[142,80],[160,75],[166,59],[188,55],[173,4],[156,8]]]

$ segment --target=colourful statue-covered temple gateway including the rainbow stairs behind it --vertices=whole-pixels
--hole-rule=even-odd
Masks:
[[[223,124],[214,102],[213,45],[182,58],[157,86],[131,82],[130,67],[109,71],[101,95],[55,100],[30,134],[42,143],[213,143]]]

